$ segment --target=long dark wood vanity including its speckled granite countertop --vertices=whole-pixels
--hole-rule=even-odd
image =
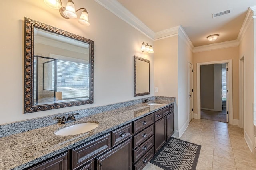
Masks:
[[[150,102],[161,104],[148,105],[140,100],[109,111],[100,107],[101,113],[78,118],[74,123],[2,137],[0,169],[140,170],[174,133],[175,98],[161,100],[160,97]],[[70,125],[92,121],[97,121],[99,126],[87,133],[54,134]]]

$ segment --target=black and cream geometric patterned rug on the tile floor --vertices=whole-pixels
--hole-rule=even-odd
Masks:
[[[201,146],[171,137],[150,160],[165,170],[196,170]]]

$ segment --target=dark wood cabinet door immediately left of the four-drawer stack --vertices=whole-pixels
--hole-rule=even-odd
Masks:
[[[132,138],[97,158],[97,170],[131,170]]]

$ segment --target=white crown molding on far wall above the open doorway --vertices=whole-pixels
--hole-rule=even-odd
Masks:
[[[202,46],[199,46],[199,47],[194,47],[192,52],[193,53],[198,53],[198,52],[211,51],[211,50],[216,50],[216,49],[238,47],[239,44],[240,44],[239,41],[232,40],[232,41],[226,41],[226,42],[222,42],[222,43],[202,45]]]

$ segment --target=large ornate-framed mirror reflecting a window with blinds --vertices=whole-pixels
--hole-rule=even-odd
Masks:
[[[94,41],[25,17],[24,113],[93,103]]]

